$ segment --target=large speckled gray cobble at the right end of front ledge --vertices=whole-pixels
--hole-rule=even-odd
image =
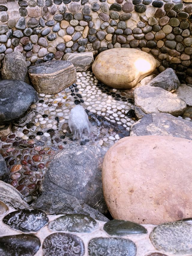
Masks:
[[[175,221],[156,226],[150,234],[157,250],[171,254],[192,254],[192,225],[185,221]]]

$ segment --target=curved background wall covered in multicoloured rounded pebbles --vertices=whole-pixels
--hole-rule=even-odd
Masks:
[[[192,4],[181,0],[0,0],[0,66],[20,51],[28,66],[65,53],[134,47],[192,84]]]

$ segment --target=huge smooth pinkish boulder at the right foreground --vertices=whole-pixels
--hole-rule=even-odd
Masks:
[[[113,218],[159,224],[192,215],[192,141],[125,137],[106,153],[104,198]]]

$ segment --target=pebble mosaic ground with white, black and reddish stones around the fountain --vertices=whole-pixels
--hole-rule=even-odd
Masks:
[[[73,138],[67,124],[70,110],[77,104],[86,109],[93,125],[91,136],[82,140]],[[24,127],[13,126],[12,133],[0,141],[0,153],[10,170],[10,184],[27,202],[38,195],[46,167],[66,144],[88,143],[107,151],[121,137],[128,136],[129,127],[136,122],[128,114],[134,109],[133,90],[104,86],[91,71],[78,72],[77,82],[58,94],[40,93],[31,109],[32,120]],[[192,107],[187,108],[183,118],[192,119]]]

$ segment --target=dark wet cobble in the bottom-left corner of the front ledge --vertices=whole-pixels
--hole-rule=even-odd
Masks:
[[[0,254],[33,256],[38,252],[41,242],[37,236],[30,234],[1,236]]]

